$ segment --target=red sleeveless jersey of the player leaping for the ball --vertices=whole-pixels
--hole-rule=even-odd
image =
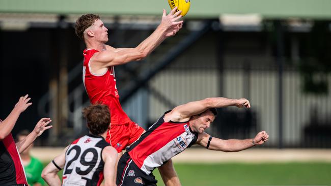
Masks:
[[[104,74],[91,72],[91,57],[99,52],[94,49],[85,49],[83,66],[83,83],[91,104],[105,104],[111,111],[111,122],[115,125],[122,125],[130,122],[130,118],[123,111],[120,104],[120,96],[116,87],[114,66],[109,67]]]

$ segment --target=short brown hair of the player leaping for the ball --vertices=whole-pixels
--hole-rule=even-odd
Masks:
[[[84,14],[80,16],[75,23],[75,33],[78,38],[84,41],[84,31],[98,19],[100,19],[100,16],[95,14]]]

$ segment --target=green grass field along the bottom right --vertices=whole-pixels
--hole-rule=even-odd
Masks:
[[[330,185],[331,163],[175,164],[183,186]],[[164,185],[157,171],[154,175]]]

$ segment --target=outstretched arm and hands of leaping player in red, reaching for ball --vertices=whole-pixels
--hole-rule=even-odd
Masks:
[[[182,27],[183,21],[178,21],[181,18],[181,11],[175,12],[173,9],[168,15],[163,9],[162,21],[154,32],[140,43],[135,48],[119,48],[115,49],[106,45],[104,51],[93,59],[100,63],[100,68],[123,65],[133,60],[141,60],[149,55],[162,41],[170,36],[174,36]]]

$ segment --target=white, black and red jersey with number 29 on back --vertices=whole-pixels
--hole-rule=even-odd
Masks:
[[[62,185],[100,185],[103,180],[102,150],[109,144],[101,137],[86,135],[73,141],[66,151]]]

